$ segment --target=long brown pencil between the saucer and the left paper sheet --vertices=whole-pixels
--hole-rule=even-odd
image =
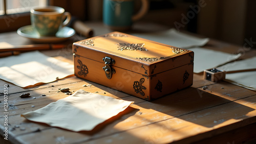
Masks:
[[[0,52],[6,51],[33,51],[33,50],[51,50],[51,49],[60,49],[65,47],[63,44],[33,44],[33,45],[19,45],[8,48],[0,48]]]

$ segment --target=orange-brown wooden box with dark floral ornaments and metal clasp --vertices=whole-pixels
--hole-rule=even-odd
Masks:
[[[153,100],[193,83],[194,52],[113,32],[73,44],[75,75]]]

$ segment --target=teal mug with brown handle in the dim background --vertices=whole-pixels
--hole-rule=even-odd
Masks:
[[[103,22],[116,31],[129,30],[134,21],[142,18],[148,8],[148,0],[141,0],[139,12],[133,15],[135,0],[103,0]]]

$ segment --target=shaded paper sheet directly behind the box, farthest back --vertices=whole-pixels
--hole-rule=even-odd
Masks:
[[[174,28],[161,33],[146,33],[146,34],[133,34],[137,37],[152,40],[155,42],[172,45],[180,48],[188,48],[195,46],[205,45],[208,38],[197,38],[181,32],[176,31]]]

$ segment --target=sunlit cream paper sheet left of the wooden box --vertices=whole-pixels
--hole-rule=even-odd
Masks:
[[[21,53],[0,59],[0,79],[19,87],[48,83],[74,74],[74,65],[59,61],[39,51]]]

